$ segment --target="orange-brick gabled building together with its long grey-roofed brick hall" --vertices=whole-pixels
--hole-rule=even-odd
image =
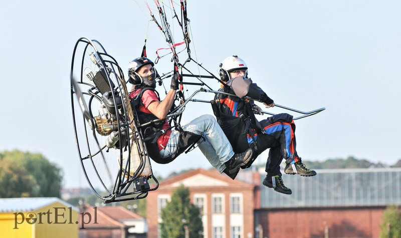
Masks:
[[[236,180],[195,169],[149,193],[148,237],[158,237],[160,210],[181,183],[203,214],[204,237],[377,237],[383,211],[401,205],[401,168],[320,169],[313,177],[283,174],[293,194],[265,187],[265,172]],[[156,205],[157,204],[157,205]]]

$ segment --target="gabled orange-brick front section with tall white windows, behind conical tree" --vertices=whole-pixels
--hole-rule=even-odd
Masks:
[[[191,202],[202,210],[205,237],[248,237],[253,234],[256,186],[199,168],[163,180],[157,190],[149,192],[146,197],[149,238],[158,237],[160,209],[181,183],[189,189]]]

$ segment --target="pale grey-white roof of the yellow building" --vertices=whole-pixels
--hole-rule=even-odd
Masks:
[[[34,211],[55,202],[60,202],[67,207],[71,206],[73,210],[78,211],[76,207],[58,197],[16,197],[0,198],[0,212]]]

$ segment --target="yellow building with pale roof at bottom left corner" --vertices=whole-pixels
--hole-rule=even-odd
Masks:
[[[78,209],[57,197],[0,198],[0,237],[78,238]]]

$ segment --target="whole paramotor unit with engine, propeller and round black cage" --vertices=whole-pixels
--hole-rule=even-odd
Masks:
[[[80,162],[98,197],[137,199],[157,189],[124,74],[97,40],[81,37],[75,44],[71,104]]]

